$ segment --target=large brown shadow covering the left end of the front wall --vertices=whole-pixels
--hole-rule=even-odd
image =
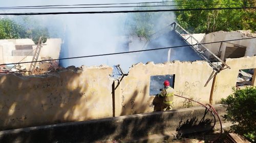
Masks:
[[[11,74],[1,76],[0,130],[81,121],[83,118],[89,120],[90,109],[79,105],[96,99],[85,94],[86,87],[69,86],[80,74],[70,71],[59,76],[51,80],[41,77],[22,79]],[[81,117],[78,112],[82,112]]]

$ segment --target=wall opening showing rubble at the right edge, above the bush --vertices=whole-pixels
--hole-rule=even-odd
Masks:
[[[254,74],[255,74],[255,72],[254,72],[253,68],[239,69],[238,79],[237,79],[237,86],[253,85],[252,81],[254,81],[253,78],[255,78]]]

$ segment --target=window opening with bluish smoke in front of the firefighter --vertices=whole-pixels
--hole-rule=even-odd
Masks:
[[[160,93],[160,89],[163,88],[163,82],[168,80],[170,86],[174,88],[175,75],[158,75],[150,77],[150,96]]]

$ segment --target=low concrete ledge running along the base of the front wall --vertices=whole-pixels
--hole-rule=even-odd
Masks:
[[[225,113],[225,108],[220,105],[214,107],[219,115]],[[0,131],[0,142],[95,142],[140,138],[150,134],[164,134],[166,131],[191,133],[211,129],[214,118],[210,113],[204,117],[204,113],[205,108],[193,107],[6,130]]]

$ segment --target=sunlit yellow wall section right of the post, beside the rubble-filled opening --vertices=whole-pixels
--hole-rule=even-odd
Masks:
[[[216,78],[213,94],[215,104],[220,103],[221,98],[226,98],[232,93],[232,87],[235,87],[237,83],[239,69],[256,68],[256,56],[226,59],[226,64],[230,66],[230,69],[222,70]],[[255,81],[253,85],[256,86]]]

